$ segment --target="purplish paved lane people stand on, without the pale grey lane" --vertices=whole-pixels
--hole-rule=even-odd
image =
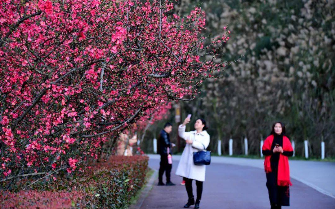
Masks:
[[[178,185],[182,179],[174,175],[178,159],[178,156],[174,156],[172,171],[172,181],[177,186],[159,187],[156,186],[156,180],[141,208],[182,208],[187,202],[185,186]],[[213,158],[214,163],[206,168],[201,208],[270,208],[263,169],[250,166],[252,164],[250,162],[242,166],[222,163],[222,160],[219,160]],[[149,166],[158,170],[157,155],[150,155]],[[193,184],[195,194],[196,187],[195,183]],[[292,179],[292,184],[290,188],[291,207],[289,208],[335,208],[334,198],[294,179]]]

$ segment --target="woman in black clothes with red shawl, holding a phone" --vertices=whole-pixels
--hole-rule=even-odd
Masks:
[[[266,187],[269,190],[271,209],[290,205],[290,171],[288,157],[293,155],[290,140],[285,136],[285,126],[276,122],[272,126],[262,148],[265,155],[264,168],[266,173]]]

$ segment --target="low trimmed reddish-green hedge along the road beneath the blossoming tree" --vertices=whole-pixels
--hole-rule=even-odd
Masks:
[[[33,190],[0,192],[1,208],[126,208],[143,186],[147,156],[111,156],[74,175],[60,174]],[[21,182],[18,190],[30,182]]]

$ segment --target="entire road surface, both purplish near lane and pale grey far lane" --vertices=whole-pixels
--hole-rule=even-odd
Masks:
[[[149,155],[149,157],[149,167],[158,170],[159,155]],[[185,186],[179,185],[182,178],[175,175],[179,158],[180,156],[174,156],[171,175],[172,181],[177,185],[172,187],[156,186],[156,180],[141,208],[182,208],[187,202]],[[311,163],[310,165],[316,168],[309,167],[305,163]],[[270,208],[262,164],[263,161],[257,159],[212,157],[212,164],[206,168],[206,181],[204,182],[200,208]],[[329,193],[330,196],[292,178],[293,186],[290,188],[289,208],[335,209],[335,198],[331,197],[332,192],[328,189],[335,186],[333,184],[334,175],[330,177],[331,172],[333,172],[332,169],[334,169],[333,163],[290,161],[290,166],[291,174],[294,173],[297,179],[303,177],[302,181],[319,188],[324,193]],[[313,173],[313,169],[321,171]],[[322,173],[324,172],[323,169],[328,169],[327,174]],[[318,173],[319,177],[323,179],[313,180],[313,175]],[[309,182],[309,179],[313,181]],[[328,185],[324,184],[325,182],[328,182]],[[327,186],[322,187],[322,185]],[[195,189],[196,186],[193,183],[193,191],[196,196]],[[193,206],[190,208],[193,208]]]

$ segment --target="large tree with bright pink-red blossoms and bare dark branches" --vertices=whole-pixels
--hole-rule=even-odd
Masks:
[[[194,98],[224,67],[215,47],[229,37],[206,51],[204,12],[172,9],[160,0],[1,1],[2,177],[73,172],[129,124]]]

